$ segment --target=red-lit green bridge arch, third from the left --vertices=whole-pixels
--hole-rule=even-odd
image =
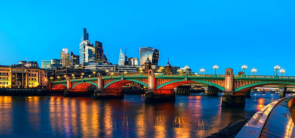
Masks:
[[[139,80],[126,78],[126,79],[123,79],[123,80],[121,80],[121,79],[117,79],[117,80],[114,80],[114,81],[112,81],[112,82],[109,82],[108,84],[106,84],[106,85],[104,86],[104,89],[105,89],[105,88],[108,88],[108,87],[110,87],[110,88],[112,88],[112,87],[122,87],[122,86],[124,86],[125,84],[130,83],[130,82],[136,82],[136,83],[139,83],[139,84],[144,85],[145,87],[148,87],[147,84],[145,84],[145,83],[143,83],[143,82],[141,82],[141,81],[139,81]]]

